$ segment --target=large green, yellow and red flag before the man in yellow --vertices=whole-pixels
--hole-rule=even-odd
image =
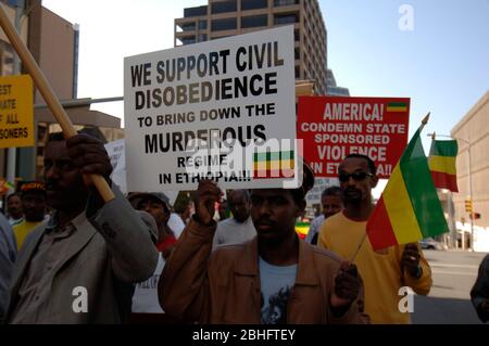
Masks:
[[[402,153],[367,221],[366,232],[374,249],[448,232],[419,138],[423,127]]]

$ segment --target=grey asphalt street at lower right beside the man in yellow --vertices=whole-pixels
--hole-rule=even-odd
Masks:
[[[424,251],[432,270],[427,297],[414,297],[414,324],[481,323],[472,306],[469,292],[485,253]]]

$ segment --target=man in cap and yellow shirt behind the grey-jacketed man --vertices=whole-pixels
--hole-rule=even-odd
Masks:
[[[17,249],[21,249],[24,240],[32,230],[45,221],[46,215],[46,185],[41,181],[24,182],[21,185],[21,202],[24,210],[24,220],[13,226]]]

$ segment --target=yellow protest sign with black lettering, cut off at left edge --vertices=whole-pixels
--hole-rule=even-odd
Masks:
[[[0,77],[0,148],[34,146],[33,80]]]

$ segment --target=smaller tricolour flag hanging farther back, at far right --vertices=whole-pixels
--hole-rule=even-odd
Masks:
[[[456,140],[432,140],[428,164],[432,181],[437,189],[448,189],[452,192],[459,192],[455,168],[457,153],[459,144],[456,143]]]

